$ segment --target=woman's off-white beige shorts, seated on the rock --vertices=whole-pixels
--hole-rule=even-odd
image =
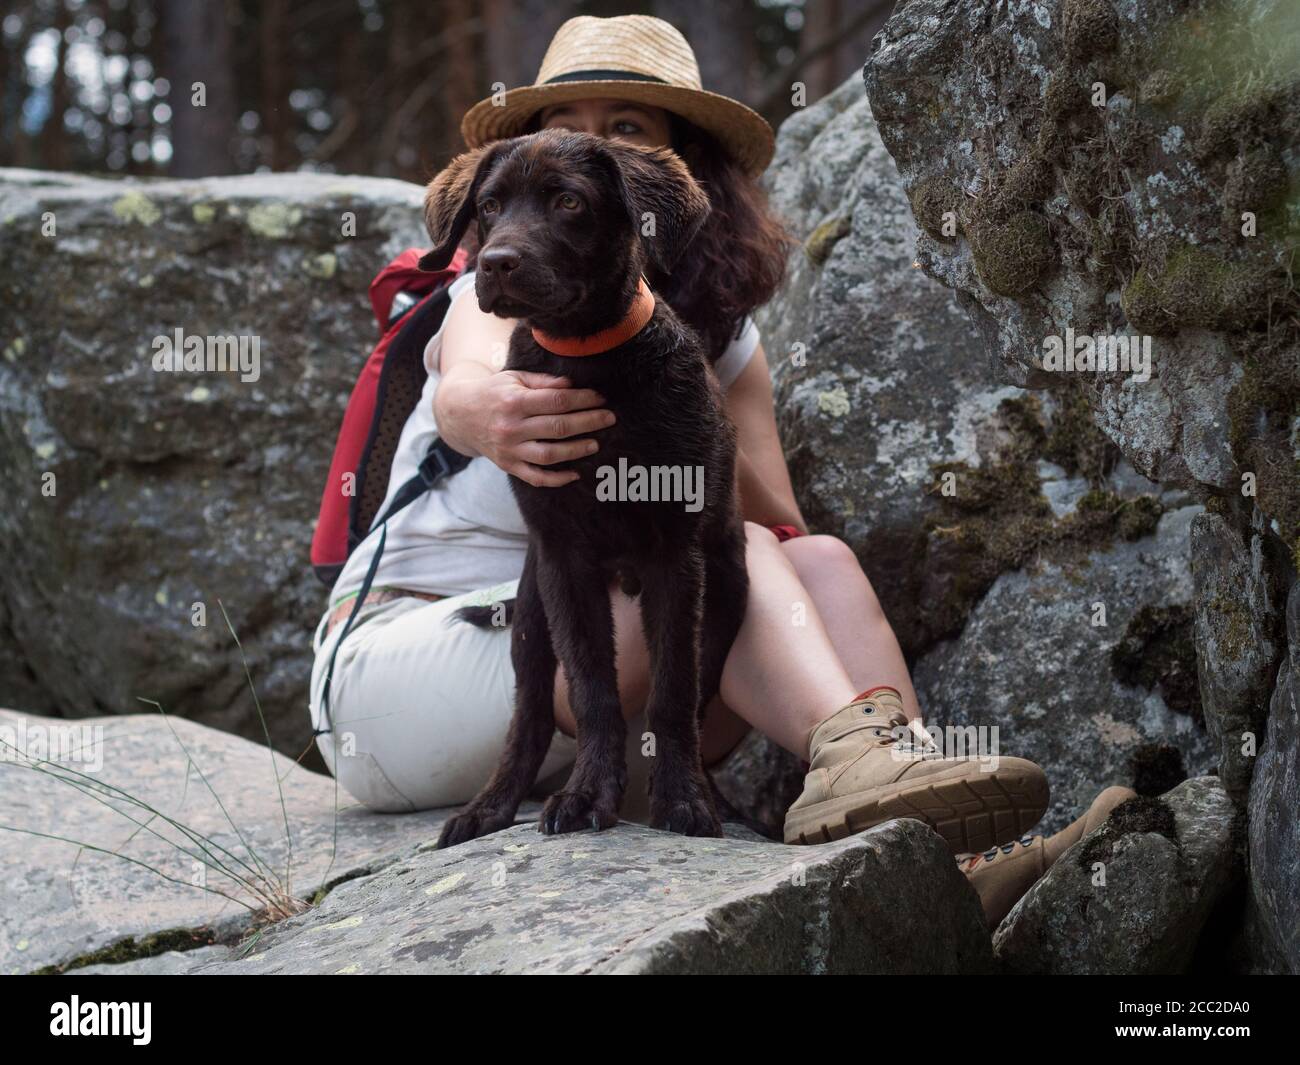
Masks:
[[[330,684],[332,732],[316,745],[350,796],[400,813],[468,802],[488,783],[515,702],[510,629],[452,620],[469,603],[515,594],[515,581],[438,602],[399,598],[361,607]],[[346,625],[316,628],[312,728],[321,730],[325,671]],[[556,730],[540,779],[563,770],[575,741]]]

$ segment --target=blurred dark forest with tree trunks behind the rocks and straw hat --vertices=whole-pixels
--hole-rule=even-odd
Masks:
[[[776,126],[867,55],[893,0],[6,0],[0,165],[424,181],[495,82],[529,85],[576,14],[681,30],[705,88]],[[202,108],[191,86],[205,86]],[[186,105],[179,105],[179,104]]]

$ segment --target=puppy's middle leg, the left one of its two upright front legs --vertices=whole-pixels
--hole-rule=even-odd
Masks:
[[[538,827],[547,835],[608,828],[619,819],[628,771],[606,573],[572,544],[549,546],[538,559],[551,642],[577,722],[573,771],[546,801]]]

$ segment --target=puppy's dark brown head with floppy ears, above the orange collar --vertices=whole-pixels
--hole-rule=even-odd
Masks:
[[[499,317],[584,317],[651,265],[671,273],[708,198],[668,148],[542,130],[456,156],[425,192],[442,269],[478,222],[478,306]]]

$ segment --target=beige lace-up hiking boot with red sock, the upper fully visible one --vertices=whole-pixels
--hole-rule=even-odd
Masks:
[[[829,843],[893,818],[923,821],[954,854],[988,850],[1032,828],[1048,779],[1024,758],[944,758],[914,743],[902,697],[871,688],[812,730],[803,793],[785,814],[786,843]]]

